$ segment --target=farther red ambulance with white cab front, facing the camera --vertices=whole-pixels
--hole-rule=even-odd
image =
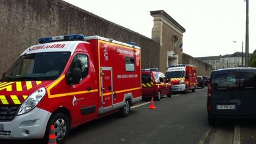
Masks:
[[[196,91],[197,87],[197,68],[193,65],[174,65],[169,66],[165,73],[170,79],[173,92],[184,92],[188,90]]]

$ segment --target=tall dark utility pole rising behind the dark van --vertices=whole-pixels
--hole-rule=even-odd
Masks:
[[[245,67],[249,66],[249,0],[246,1]]]

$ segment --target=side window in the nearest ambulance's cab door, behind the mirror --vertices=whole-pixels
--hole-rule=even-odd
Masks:
[[[79,68],[82,72],[82,78],[85,78],[88,75],[88,57],[87,55],[78,54],[74,57],[71,68],[69,69],[69,72],[71,72],[71,69]]]

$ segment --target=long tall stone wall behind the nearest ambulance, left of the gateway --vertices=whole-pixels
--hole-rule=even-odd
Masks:
[[[125,17],[124,17],[125,18]],[[0,74],[40,37],[102,36],[141,47],[142,68],[159,68],[159,43],[61,0],[0,1]]]

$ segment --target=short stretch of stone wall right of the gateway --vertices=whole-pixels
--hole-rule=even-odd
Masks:
[[[197,75],[210,76],[210,73],[212,72],[212,65],[209,65],[208,63],[198,60],[185,53],[183,53],[183,64],[197,66]]]

